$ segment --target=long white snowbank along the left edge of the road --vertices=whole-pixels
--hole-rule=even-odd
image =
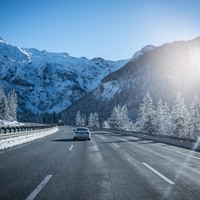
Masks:
[[[21,145],[24,143],[31,142],[33,140],[40,139],[42,137],[55,133],[57,130],[58,128],[55,127],[48,131],[41,130],[41,132],[39,133],[32,133],[32,134],[27,134],[27,135],[18,136],[18,137],[0,139],[0,150],[5,150],[17,145]]]

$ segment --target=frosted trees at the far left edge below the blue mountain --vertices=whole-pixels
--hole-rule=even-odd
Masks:
[[[15,90],[6,96],[3,89],[0,89],[0,120],[17,121],[17,98]]]

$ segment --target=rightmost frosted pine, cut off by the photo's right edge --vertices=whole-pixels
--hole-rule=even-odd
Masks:
[[[196,139],[200,136],[200,101],[198,96],[195,95],[189,107],[189,135],[191,138]]]

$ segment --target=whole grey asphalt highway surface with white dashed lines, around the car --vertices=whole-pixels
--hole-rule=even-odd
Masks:
[[[1,200],[200,199],[200,153],[133,136],[70,127],[0,152]]]

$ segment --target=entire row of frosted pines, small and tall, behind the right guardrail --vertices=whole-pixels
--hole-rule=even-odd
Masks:
[[[139,106],[135,123],[128,117],[126,106],[115,107],[111,117],[104,121],[105,128],[131,130],[157,135],[170,135],[197,139],[200,136],[200,100],[195,95],[190,106],[184,103],[180,93],[172,108],[160,99],[154,106],[150,93],[147,92]]]

